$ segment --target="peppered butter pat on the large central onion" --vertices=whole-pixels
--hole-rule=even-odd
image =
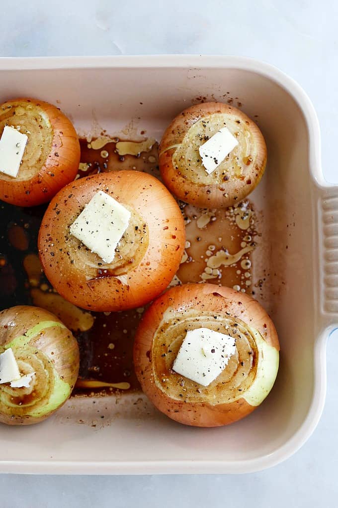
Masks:
[[[111,263],[130,217],[127,208],[100,190],[70,226],[70,233],[105,263]]]

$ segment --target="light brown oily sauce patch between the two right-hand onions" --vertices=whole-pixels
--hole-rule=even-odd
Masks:
[[[181,205],[186,242],[177,277],[250,292],[250,253],[255,247],[254,214],[248,200],[228,209]]]

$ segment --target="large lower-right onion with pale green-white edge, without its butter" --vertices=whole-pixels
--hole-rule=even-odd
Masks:
[[[209,328],[236,338],[236,354],[207,387],[172,370],[187,330]],[[279,342],[266,311],[250,296],[213,284],[183,284],[145,312],[134,344],[137,378],[148,398],[177,422],[227,425],[268,395],[278,371]]]

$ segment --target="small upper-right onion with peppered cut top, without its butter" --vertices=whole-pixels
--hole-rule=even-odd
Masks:
[[[227,126],[238,145],[208,175],[199,147]],[[207,208],[239,203],[262,177],[267,147],[257,125],[242,111],[223,103],[187,108],[168,126],[159,146],[159,166],[165,185],[179,199]]]

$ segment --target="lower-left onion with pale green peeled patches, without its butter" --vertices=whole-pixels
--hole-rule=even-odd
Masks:
[[[51,312],[19,305],[0,312],[1,353],[8,347],[12,347],[21,374],[27,373],[22,371],[24,365],[36,375],[28,389],[0,385],[0,422],[39,423],[61,407],[74,388],[80,365],[78,342]],[[42,394],[41,399],[37,394]]]

